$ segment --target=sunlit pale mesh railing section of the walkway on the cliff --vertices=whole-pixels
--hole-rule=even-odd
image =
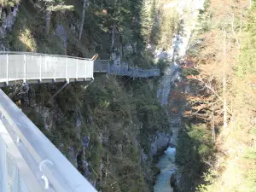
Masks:
[[[94,61],[67,55],[0,52],[0,84],[93,79]]]

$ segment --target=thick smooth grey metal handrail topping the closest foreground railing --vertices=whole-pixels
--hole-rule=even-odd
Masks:
[[[13,136],[13,143],[16,148],[19,148],[23,160],[30,168],[26,170],[27,168],[21,167],[21,177],[22,174],[26,176],[27,172],[32,172],[38,179],[42,191],[96,192],[96,189],[55,148],[54,144],[50,143],[38,127],[9,99],[9,96],[4,94],[3,90],[0,90],[0,112],[9,123],[9,134]],[[42,176],[49,182],[48,187]],[[31,182],[25,181],[26,185],[33,186],[35,183]],[[28,189],[32,187],[28,186]]]

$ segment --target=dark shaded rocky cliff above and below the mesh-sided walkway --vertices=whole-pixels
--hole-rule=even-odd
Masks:
[[[74,9],[51,15],[49,35],[44,33],[45,12],[39,3],[20,2],[14,26],[2,37],[6,49],[84,57],[97,52],[102,59],[112,58],[113,64],[121,64],[121,54],[122,62],[131,66],[158,67],[143,48],[139,1],[129,4],[128,10],[125,4],[119,5],[118,15],[113,15],[111,3],[98,3],[106,7],[107,15],[98,4],[89,4],[80,41],[79,1],[63,1]],[[123,14],[128,18],[121,20]],[[113,30],[112,21],[117,19]],[[114,44],[111,32],[115,34]],[[154,155],[166,148],[172,135],[167,113],[156,97],[157,84],[158,79],[102,74],[88,87],[68,84],[54,98],[62,84],[17,82],[4,90],[96,189],[150,191],[159,172],[154,167]]]

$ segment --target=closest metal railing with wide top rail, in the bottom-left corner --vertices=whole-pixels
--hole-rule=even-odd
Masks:
[[[0,90],[0,191],[96,192]]]

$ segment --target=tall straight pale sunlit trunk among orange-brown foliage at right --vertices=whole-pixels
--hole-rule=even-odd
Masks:
[[[224,55],[224,73],[222,77],[222,88],[223,88],[223,126],[227,128],[228,126],[228,113],[227,113],[227,82],[226,82],[226,31],[224,29],[224,47],[223,47],[223,55]]]

